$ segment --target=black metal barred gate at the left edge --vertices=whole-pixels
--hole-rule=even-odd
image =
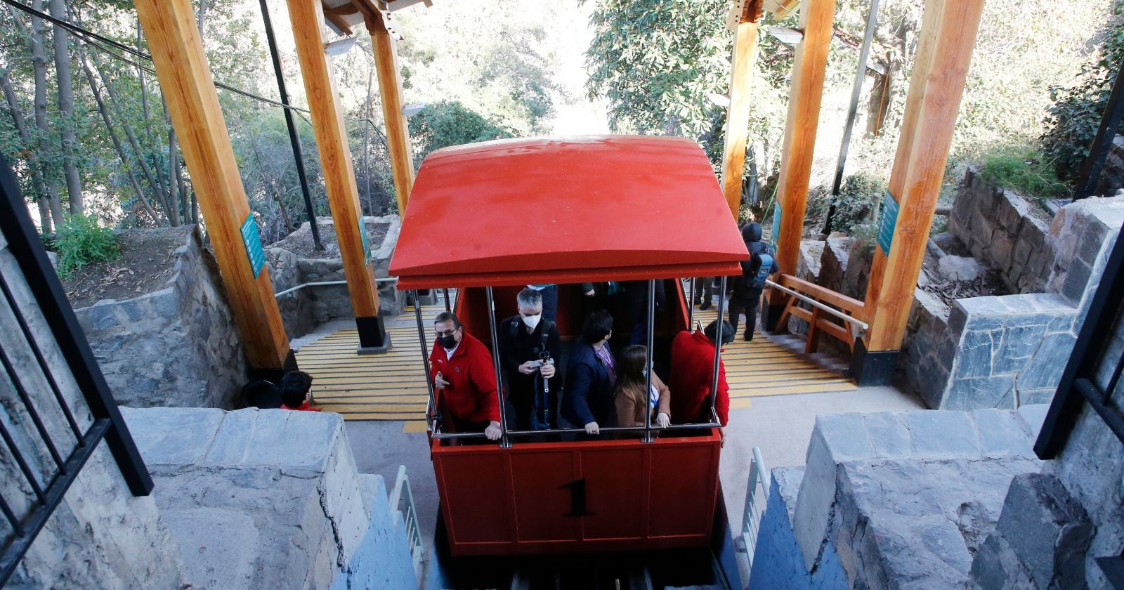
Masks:
[[[3,441],[0,453],[8,454],[18,465],[17,478],[21,480],[17,485],[26,484],[27,490],[20,497],[11,494],[15,485],[4,485],[0,491],[0,512],[3,512],[0,524],[10,527],[0,526],[3,533],[0,586],[3,586],[102,439],[134,496],[147,496],[153,482],[47,261],[16,176],[3,156],[0,156],[0,232],[16,263],[4,267],[19,269],[19,273],[0,273],[0,291],[8,308],[0,314],[10,314],[4,321],[19,327],[18,333],[6,333],[0,345],[0,364],[18,397],[18,402],[6,400],[4,411],[0,412]],[[20,292],[30,296],[34,307],[19,305]],[[36,335],[33,330],[31,325],[40,323],[37,316],[42,316],[49,335],[42,330]],[[53,347],[62,354],[74,385],[85,400],[89,419],[81,412],[75,417],[75,408],[64,394],[71,390],[66,385],[71,378],[52,371],[47,356],[54,356]],[[17,369],[17,354],[34,357],[39,374]],[[40,383],[46,383],[46,388],[39,387]],[[60,415],[62,420],[51,420]],[[24,424],[24,416],[30,425]]]

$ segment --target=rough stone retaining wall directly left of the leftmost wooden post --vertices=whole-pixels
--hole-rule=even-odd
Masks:
[[[164,289],[74,312],[118,403],[233,408],[245,353],[198,227],[174,256]]]

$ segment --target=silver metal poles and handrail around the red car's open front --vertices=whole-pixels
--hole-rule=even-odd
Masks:
[[[496,301],[492,297],[491,287],[484,288],[488,298],[488,323],[491,330],[491,342],[499,342],[496,334]],[[417,292],[415,291],[415,300],[417,300]],[[445,298],[446,306],[448,297]],[[718,290],[718,309],[722,309],[726,305],[726,276],[722,276],[720,288]],[[425,326],[422,321],[422,306],[414,306],[414,318],[418,328],[418,342],[422,346],[422,357],[424,360],[425,374],[426,374],[426,390],[429,393],[429,400],[426,405],[426,425],[433,438],[437,439],[457,439],[457,438],[482,438],[483,433],[446,433],[442,429],[441,411],[437,406],[437,398],[434,392],[433,375],[429,370],[429,352],[428,345],[426,344],[426,333]],[[723,339],[723,326],[725,323],[718,321],[717,333],[715,338],[718,342]],[[688,326],[690,327],[690,326]],[[647,281],[647,365],[652,365],[652,346],[654,343],[654,330],[655,330],[655,280],[650,279]],[[499,396],[499,407],[504,408],[504,383],[502,373],[499,364],[499,355],[492,354],[492,362],[495,364],[496,371],[496,389]],[[667,427],[660,428],[660,430],[698,430],[700,428],[719,428],[722,423],[718,419],[718,414],[715,410],[715,401],[718,396],[718,363],[722,362],[722,346],[715,346],[714,352],[714,374],[710,383],[710,420],[706,423],[691,423],[691,424],[672,424]],[[647,390],[652,389],[652,372],[647,372]],[[500,421],[500,439],[499,445],[501,447],[511,446],[511,437],[527,437],[527,436],[543,436],[543,435],[561,435],[561,434],[582,434],[586,432],[584,428],[550,428],[540,430],[509,430],[507,428],[507,411],[499,412]],[[644,426],[601,426],[598,428],[601,433],[643,433],[641,441],[644,443],[651,443],[655,438],[652,436],[652,416],[651,412],[644,412]]]

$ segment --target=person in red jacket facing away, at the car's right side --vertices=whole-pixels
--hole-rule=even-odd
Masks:
[[[734,339],[734,328],[722,320],[722,344]],[[680,332],[671,342],[671,420],[676,424],[710,421],[710,385],[714,382],[714,342],[718,320],[703,332]],[[718,423],[729,421],[729,384],[726,366],[718,361],[718,396],[714,400]]]

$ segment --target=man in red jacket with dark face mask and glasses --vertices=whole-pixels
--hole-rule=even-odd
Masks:
[[[483,432],[489,441],[499,439],[499,397],[491,353],[464,333],[451,311],[442,311],[433,327],[437,338],[429,353],[429,374],[441,392],[441,407],[456,432]]]

